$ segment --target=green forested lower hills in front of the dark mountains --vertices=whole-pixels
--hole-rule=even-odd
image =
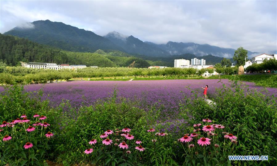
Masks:
[[[70,65],[87,65],[99,67],[134,67],[149,66],[173,67],[174,59],[191,59],[193,54],[182,54],[170,57],[149,57],[141,54],[128,54],[118,50],[101,50],[94,53],[70,52],[42,45],[26,38],[0,34],[0,62],[8,66],[19,66],[23,62],[48,62]],[[223,58],[212,55],[203,56],[207,64],[219,63]],[[135,62],[132,66],[132,64]]]

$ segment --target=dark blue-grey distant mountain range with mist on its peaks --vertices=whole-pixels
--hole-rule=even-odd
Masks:
[[[4,34],[27,38],[39,44],[75,52],[95,52],[98,49],[112,49],[149,57],[171,57],[190,53],[198,57],[213,55],[231,58],[235,50],[193,42],[169,41],[166,44],[155,44],[115,31],[102,37],[91,31],[66,25],[62,22],[51,22],[50,20],[35,21],[31,25],[33,26],[28,28],[15,27]],[[255,52],[248,51],[248,55],[253,53]]]

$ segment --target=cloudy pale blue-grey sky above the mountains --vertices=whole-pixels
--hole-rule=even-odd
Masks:
[[[277,1],[2,1],[0,33],[47,20],[142,41],[277,51]]]

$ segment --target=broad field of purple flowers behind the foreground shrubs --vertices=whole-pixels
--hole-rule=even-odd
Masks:
[[[129,101],[139,101],[142,107],[156,104],[163,105],[166,110],[178,108],[178,104],[185,96],[191,96],[191,90],[203,94],[205,85],[209,85],[207,95],[212,96],[216,88],[221,88],[222,83],[217,79],[202,80],[157,80],[157,81],[69,81],[49,84],[26,85],[27,91],[43,89],[43,98],[48,98],[52,106],[57,106],[64,100],[69,100],[72,106],[78,108],[84,105],[93,105],[97,100],[105,100],[113,95],[116,87],[118,96]],[[227,86],[232,83],[228,79],[221,80]],[[255,86],[254,83],[244,82],[250,89],[261,92],[265,88]],[[189,86],[190,89],[187,87]],[[276,88],[267,88],[270,94],[277,97]],[[183,93],[181,93],[181,91]],[[48,96],[49,95],[49,96]]]

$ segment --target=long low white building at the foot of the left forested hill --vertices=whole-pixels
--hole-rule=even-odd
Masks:
[[[61,64],[57,65],[56,63],[25,63],[24,67],[32,68],[32,69],[82,69],[87,67],[86,65],[68,65],[68,64]]]

